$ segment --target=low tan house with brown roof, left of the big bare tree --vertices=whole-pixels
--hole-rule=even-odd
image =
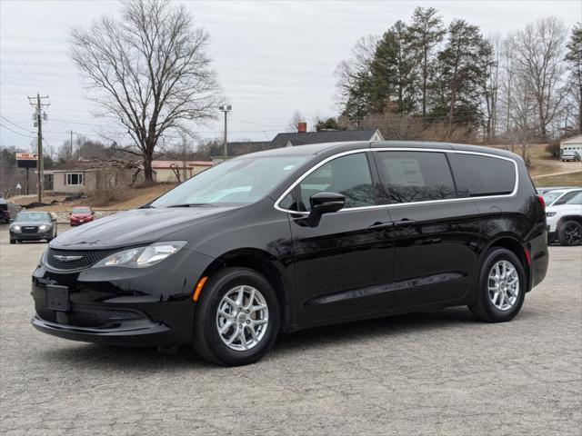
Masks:
[[[69,161],[45,171],[45,175],[52,176],[55,193],[89,193],[144,181],[141,165],[120,161]]]

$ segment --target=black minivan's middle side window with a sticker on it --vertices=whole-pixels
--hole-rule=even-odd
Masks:
[[[390,203],[426,202],[457,196],[443,153],[379,152]]]

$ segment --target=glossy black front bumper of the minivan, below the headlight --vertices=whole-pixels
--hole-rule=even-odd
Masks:
[[[166,346],[191,343],[196,303],[192,292],[211,258],[183,249],[173,262],[151,268],[87,268],[33,273],[35,316],[40,332],[64,339],[112,345]],[[49,307],[47,286],[66,286],[66,310]]]

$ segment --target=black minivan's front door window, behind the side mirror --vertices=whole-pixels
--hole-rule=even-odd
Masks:
[[[304,211],[311,208],[309,197],[322,191],[341,193],[346,197],[346,207],[373,205],[372,176],[366,154],[348,154],[326,163],[299,183],[299,191],[299,208]]]

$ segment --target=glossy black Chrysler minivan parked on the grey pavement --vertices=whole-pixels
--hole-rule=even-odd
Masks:
[[[60,234],[33,273],[36,329],[192,343],[255,362],[280,332],[468,305],[506,322],[547,271],[522,160],[473,145],[357,142],[246,154],[139,209]]]

